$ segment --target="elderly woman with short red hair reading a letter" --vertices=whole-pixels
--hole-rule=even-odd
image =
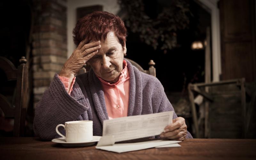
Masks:
[[[76,120],[92,120],[93,135],[102,136],[106,119],[173,110],[159,80],[124,60],[126,28],[118,16],[93,12],[77,22],[73,34],[76,50],[36,106],[37,136],[58,138],[55,127]],[[92,69],[75,77],[85,63]],[[184,118],[175,113],[160,137],[192,138]]]

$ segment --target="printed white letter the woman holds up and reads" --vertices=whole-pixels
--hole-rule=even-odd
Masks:
[[[113,137],[109,142],[132,140],[137,138],[159,135],[164,128],[172,123],[173,111],[161,112],[148,115],[127,116],[105,120],[103,122],[102,137]],[[112,145],[109,142],[100,140],[97,146]],[[106,140],[106,139],[105,139]]]

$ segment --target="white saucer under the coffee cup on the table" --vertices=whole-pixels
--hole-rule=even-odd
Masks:
[[[82,147],[82,146],[91,146],[94,145],[96,142],[100,140],[101,136],[93,136],[92,141],[87,142],[66,142],[65,138],[55,138],[52,142],[60,143],[62,146],[65,147]]]

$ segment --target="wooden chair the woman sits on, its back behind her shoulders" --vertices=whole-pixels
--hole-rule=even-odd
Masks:
[[[125,58],[125,60],[128,60],[129,62],[131,62],[132,65],[135,66],[136,68],[138,68],[141,72],[144,72],[144,73],[149,74],[151,76],[156,76],[156,68],[154,67],[156,63],[153,60],[150,60],[149,63],[148,63],[148,65],[149,65],[148,70],[144,70],[138,63],[136,63],[133,60],[130,60],[128,58]],[[82,69],[80,69],[80,71],[78,72],[78,75],[83,74],[86,71],[89,71],[90,68],[91,67],[89,65],[85,64],[84,67]]]

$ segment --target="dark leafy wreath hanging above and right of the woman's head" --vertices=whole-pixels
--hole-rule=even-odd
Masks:
[[[177,46],[177,31],[188,28],[189,8],[183,0],[168,1],[156,18],[145,13],[143,0],[119,0],[121,10],[126,12],[124,22],[127,28],[140,35],[143,43],[155,50],[172,49]],[[166,1],[167,2],[167,1]]]

